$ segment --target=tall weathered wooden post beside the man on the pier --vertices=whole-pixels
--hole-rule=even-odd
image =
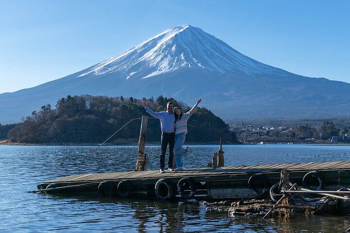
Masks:
[[[144,171],[147,166],[147,154],[144,153],[144,148],[146,144],[146,130],[147,130],[147,121],[148,116],[142,116],[141,120],[141,129],[140,129],[140,138],[139,138],[139,150],[138,150],[138,158],[136,161],[136,170]]]

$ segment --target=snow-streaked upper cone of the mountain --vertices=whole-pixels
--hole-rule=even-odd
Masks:
[[[159,33],[131,50],[89,67],[78,77],[118,72],[125,79],[144,79],[179,68],[240,70],[251,76],[283,72],[241,54],[200,28],[186,25]]]

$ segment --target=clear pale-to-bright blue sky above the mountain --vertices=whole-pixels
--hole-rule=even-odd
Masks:
[[[350,0],[1,0],[0,93],[191,24],[262,63],[350,83]]]

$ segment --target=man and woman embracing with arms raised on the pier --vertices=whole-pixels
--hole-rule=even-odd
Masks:
[[[189,147],[182,148],[187,133],[187,121],[194,113],[198,104],[201,102],[199,98],[196,104],[190,111],[182,114],[179,107],[173,106],[173,102],[167,103],[167,110],[163,112],[153,112],[147,105],[146,100],[142,100],[142,105],[145,107],[146,112],[160,120],[161,127],[161,153],[159,157],[160,173],[164,173],[165,167],[165,153],[169,145],[169,157],[168,157],[168,170],[179,171],[183,169],[182,157],[187,156],[192,152]],[[173,168],[173,156],[175,154],[176,168]]]

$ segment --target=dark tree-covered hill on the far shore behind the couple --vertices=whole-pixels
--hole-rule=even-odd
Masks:
[[[148,99],[154,111],[165,111],[168,101],[180,107],[183,112],[191,109],[181,101],[159,96]],[[194,103],[193,103],[194,104]],[[0,139],[13,143],[102,143],[126,122],[142,115],[150,116],[133,97],[67,96],[57,101],[55,108],[50,104],[33,111],[21,123],[0,125]],[[150,116],[151,117],[151,116]],[[118,132],[111,143],[137,142],[140,134],[140,120],[134,120]],[[160,122],[149,119],[146,141],[160,141]],[[187,142],[218,143],[222,137],[226,143],[237,143],[236,134],[209,109],[199,107],[188,121]]]

